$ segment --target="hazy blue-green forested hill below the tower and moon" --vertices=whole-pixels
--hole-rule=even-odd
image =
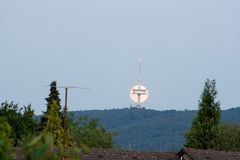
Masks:
[[[117,147],[134,150],[177,151],[196,111],[156,111],[144,108],[75,111],[79,116],[98,118],[105,128],[117,133]],[[240,123],[240,108],[222,111],[221,121]]]

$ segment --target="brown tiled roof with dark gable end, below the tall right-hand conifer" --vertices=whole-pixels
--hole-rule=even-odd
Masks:
[[[183,148],[178,155],[185,160],[240,160],[240,152]]]

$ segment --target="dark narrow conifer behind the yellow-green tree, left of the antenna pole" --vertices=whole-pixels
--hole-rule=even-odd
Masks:
[[[59,92],[57,90],[57,82],[56,81],[52,81],[50,84],[50,93],[49,96],[47,98],[45,98],[45,100],[47,101],[47,111],[43,112],[43,115],[41,116],[41,120],[40,120],[40,130],[42,130],[43,128],[45,128],[48,118],[47,118],[47,114],[48,112],[51,110],[51,106],[53,101],[56,102],[57,105],[57,113],[59,115],[59,117],[61,119],[63,119],[63,114],[61,112],[61,99],[59,98]]]

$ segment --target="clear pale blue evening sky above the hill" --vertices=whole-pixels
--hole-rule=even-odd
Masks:
[[[207,78],[222,109],[240,106],[239,0],[1,0],[0,102],[46,110],[51,81],[68,109],[195,110]],[[62,104],[64,90],[59,89]]]

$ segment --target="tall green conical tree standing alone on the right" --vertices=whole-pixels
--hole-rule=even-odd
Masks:
[[[186,133],[186,147],[214,148],[220,119],[220,103],[215,102],[216,96],[216,81],[207,79],[199,100],[197,117],[193,120],[191,129]]]

